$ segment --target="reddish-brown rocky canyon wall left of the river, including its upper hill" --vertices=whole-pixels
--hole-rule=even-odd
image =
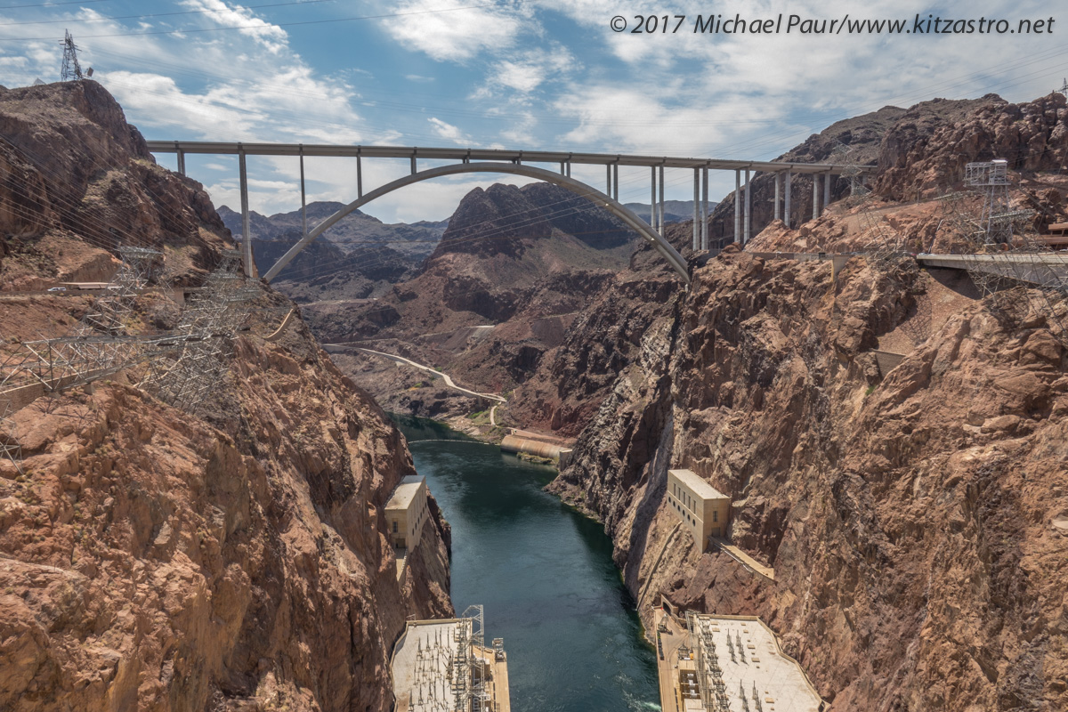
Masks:
[[[49,239],[64,240],[63,259],[82,244],[113,262],[115,240],[144,238],[194,284],[218,259],[210,203],[155,165],[97,84],[0,104],[6,165],[38,187],[0,209],[18,228],[3,233],[5,280],[47,274]],[[93,215],[138,221],[103,241],[78,195]],[[142,301],[131,333],[164,328],[142,308],[158,300]],[[85,306],[9,298],[3,336],[58,335]],[[10,418],[21,460],[0,459],[0,709],[390,709],[406,617],[452,613],[449,528],[431,506],[398,580],[382,509],[411,458],[299,319],[271,333],[290,306],[263,292],[194,414],[134,387],[135,366]]]

